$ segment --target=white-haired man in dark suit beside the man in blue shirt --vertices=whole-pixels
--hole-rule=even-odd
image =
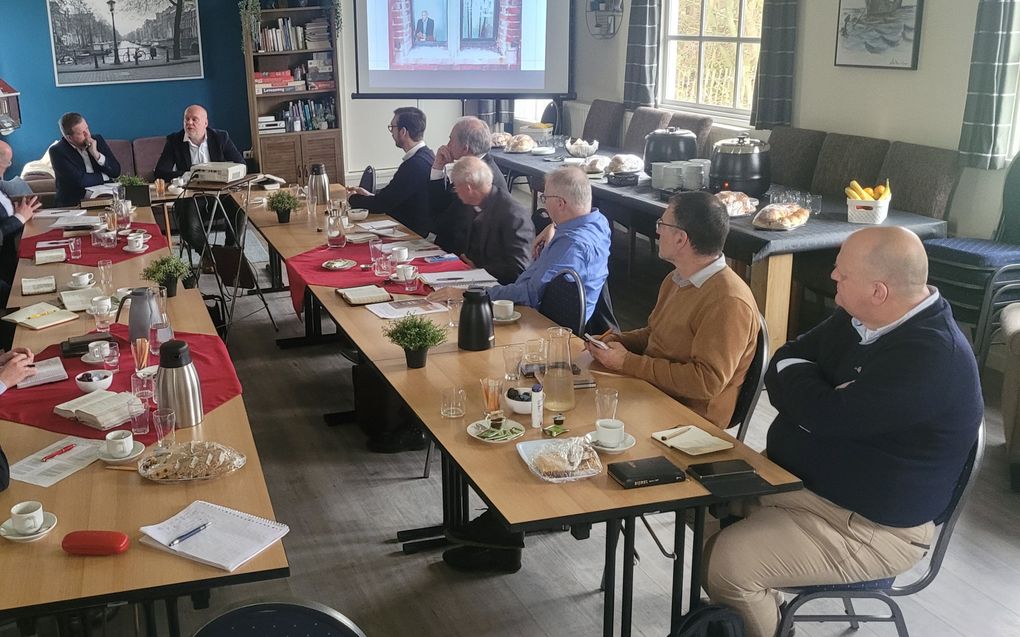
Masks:
[[[450,180],[457,197],[477,211],[461,259],[484,268],[501,285],[509,285],[531,263],[534,225],[530,212],[510,193],[493,187],[492,169],[477,157],[458,159]]]

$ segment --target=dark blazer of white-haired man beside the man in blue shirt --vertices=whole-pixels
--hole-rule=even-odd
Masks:
[[[471,222],[464,255],[501,285],[509,285],[531,263],[531,212],[510,193],[493,189]]]

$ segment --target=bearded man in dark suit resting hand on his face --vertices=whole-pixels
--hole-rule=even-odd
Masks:
[[[60,117],[60,141],[50,146],[56,177],[56,205],[73,206],[85,198],[85,189],[120,176],[120,163],[102,136],[93,137],[81,113]]]

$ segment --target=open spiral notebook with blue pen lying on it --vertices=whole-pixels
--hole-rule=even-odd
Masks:
[[[204,524],[208,526],[202,531],[169,546],[175,538]],[[169,520],[140,530],[143,544],[234,572],[291,529],[279,522],[199,499]]]

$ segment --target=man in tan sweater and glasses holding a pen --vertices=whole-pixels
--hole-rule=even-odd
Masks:
[[[588,351],[725,428],[759,330],[751,289],[722,255],[729,216],[714,195],[680,193],[656,232],[659,257],[676,269],[662,281],[648,326],[608,334],[608,350],[589,343]]]

